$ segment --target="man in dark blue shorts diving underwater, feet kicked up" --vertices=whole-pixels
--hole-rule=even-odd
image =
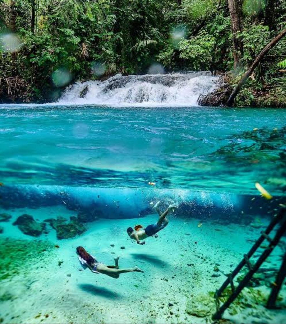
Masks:
[[[153,203],[151,203],[153,204]],[[165,228],[169,221],[166,218],[167,214],[170,212],[170,210],[174,210],[177,208],[176,206],[170,205],[163,213],[159,210],[159,204],[160,202],[157,202],[154,205],[154,209],[156,209],[157,213],[159,214],[159,219],[157,223],[148,225],[147,227],[143,228],[142,226],[135,226],[135,230],[132,227],[127,228],[127,234],[130,238],[137,241],[137,244],[143,245],[145,244],[145,241],[140,242],[140,239],[143,240],[147,237],[155,235],[157,237],[157,234],[161,229]]]

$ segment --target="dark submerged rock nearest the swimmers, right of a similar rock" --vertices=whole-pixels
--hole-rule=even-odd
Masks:
[[[45,219],[45,222],[49,223],[57,232],[57,238],[59,240],[63,238],[72,238],[84,233],[87,228],[78,221],[77,217],[71,216],[70,222],[66,224],[66,218],[57,217]]]

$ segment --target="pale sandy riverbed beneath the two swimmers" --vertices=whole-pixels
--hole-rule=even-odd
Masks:
[[[29,240],[34,238],[12,226],[20,214],[31,214],[39,221],[56,216],[75,216],[63,207],[8,212],[13,217],[9,222],[0,224],[4,227],[1,237],[27,239],[27,252]],[[157,217],[153,214],[143,219],[97,220],[88,224],[87,232],[73,239],[57,240],[53,229],[37,238],[48,239],[59,248],[53,247],[42,260],[32,260],[29,266],[24,265],[20,274],[1,281],[0,322],[212,322],[211,314],[206,317],[189,315],[186,312],[187,301],[218,289],[226,279],[223,273],[229,273],[236,267],[243,254],[251,248],[253,242],[250,240],[259,237],[261,228],[224,225],[211,220],[198,227],[200,219],[171,215],[169,225],[158,233],[159,237],[149,237],[143,246],[127,236],[127,227],[147,226],[156,222]],[[75,253],[78,245],[107,265],[113,264],[113,258],[119,255],[121,268],[137,266],[144,273],[124,273],[119,279],[112,279],[88,269],[84,271]],[[259,251],[261,249],[255,253],[256,256],[260,255]],[[281,254],[281,249],[277,247],[263,267],[279,268]],[[220,271],[215,271],[215,267]],[[266,296],[270,292],[266,286],[255,290]],[[3,298],[7,293],[10,297]],[[239,309],[234,315],[226,311],[223,318],[235,323],[285,323],[285,284],[280,297],[282,309],[270,311],[258,303]]]

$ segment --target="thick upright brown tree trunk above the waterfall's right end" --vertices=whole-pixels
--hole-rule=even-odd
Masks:
[[[232,24],[233,68],[237,68],[243,55],[242,32],[242,0],[228,0],[228,8]]]

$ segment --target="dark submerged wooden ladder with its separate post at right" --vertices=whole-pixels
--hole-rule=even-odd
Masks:
[[[269,223],[268,227],[265,231],[261,232],[261,236],[257,239],[255,244],[249,250],[247,254],[244,254],[243,260],[238,264],[238,266],[233,270],[232,273],[228,274],[228,278],[225,282],[221,285],[220,289],[218,289],[215,293],[215,302],[217,311],[212,316],[213,319],[220,319],[223,312],[230,306],[230,304],[235,300],[235,298],[240,294],[243,288],[248,284],[250,279],[252,278],[253,274],[259,269],[262,263],[266,260],[269,254],[273,251],[276,245],[279,243],[281,236],[286,231],[286,206],[281,205],[281,209],[277,216],[275,216],[272,221]],[[280,223],[280,227],[277,229],[276,234],[273,238],[270,238],[268,235],[273,230],[273,228]],[[255,251],[260,247],[264,240],[269,242],[268,247],[263,251],[260,258],[256,261],[255,264],[250,263],[251,256],[255,253]],[[246,265],[248,267],[248,272],[245,274],[242,281],[239,283],[237,287],[233,284],[233,278],[240,272],[240,270]],[[281,285],[283,280],[286,276],[286,253],[283,257],[283,261],[280,267],[280,270],[277,274],[275,283],[272,284],[271,293],[268,298],[267,306],[268,308],[274,308],[275,302],[280,291]],[[230,284],[232,289],[232,294],[228,297],[227,301],[220,307],[219,305],[219,297],[224,292],[226,287]]]

